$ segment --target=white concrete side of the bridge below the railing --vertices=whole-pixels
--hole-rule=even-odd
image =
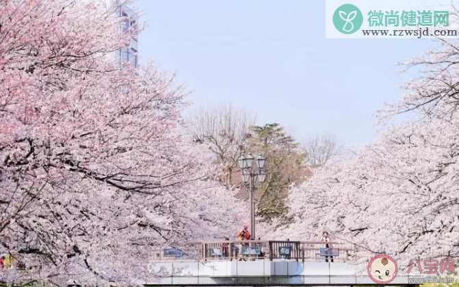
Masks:
[[[373,285],[365,269],[346,262],[296,262],[291,260],[152,262],[163,277],[153,286],[317,286]],[[360,269],[360,270],[356,270]],[[397,276],[388,285],[409,285],[408,276]]]

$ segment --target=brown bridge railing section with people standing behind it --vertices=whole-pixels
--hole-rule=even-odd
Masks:
[[[326,247],[328,244],[328,248]],[[356,248],[339,242],[321,241],[204,241],[198,243],[199,260],[296,260],[350,262]]]

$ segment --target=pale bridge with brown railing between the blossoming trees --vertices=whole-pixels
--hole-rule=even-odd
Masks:
[[[161,277],[150,286],[354,286],[376,285],[356,249],[343,243],[300,241],[207,241],[195,253],[157,254],[150,270]],[[176,258],[179,257],[179,258]],[[186,258],[187,257],[187,258]],[[326,262],[325,258],[328,259]],[[333,258],[333,262],[331,259]],[[408,276],[386,285],[408,286]]]

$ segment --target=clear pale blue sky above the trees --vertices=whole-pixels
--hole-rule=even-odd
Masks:
[[[323,0],[137,0],[140,62],[176,74],[199,109],[231,105],[299,141],[371,143],[376,111],[414,74],[399,62],[432,40],[327,39]]]

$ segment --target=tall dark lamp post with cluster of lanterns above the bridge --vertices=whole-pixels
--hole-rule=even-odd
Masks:
[[[254,163],[255,162],[255,163]],[[263,154],[259,154],[256,159],[252,154],[241,154],[237,159],[237,165],[241,169],[242,182],[248,184],[250,191],[250,239],[255,237],[255,206],[254,206],[254,191],[255,184],[263,183],[266,178],[265,173],[266,159]]]

